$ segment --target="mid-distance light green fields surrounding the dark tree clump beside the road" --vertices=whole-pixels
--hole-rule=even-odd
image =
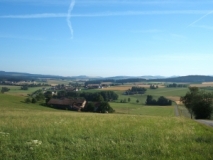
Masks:
[[[179,99],[180,96],[183,96],[187,92],[187,88],[159,88],[156,90],[147,89],[147,92],[144,95],[123,95],[123,91],[115,91],[119,95],[117,103],[110,103],[112,108],[116,110],[117,113],[122,114],[136,114],[136,115],[152,115],[152,116],[175,116],[174,107],[160,107],[160,106],[146,106],[147,95],[152,95],[155,99],[158,99],[160,96],[165,97],[175,97]],[[120,100],[128,98],[131,99],[129,103],[119,103]],[[139,103],[136,100],[139,100]],[[188,116],[188,112],[181,108],[181,113]]]

